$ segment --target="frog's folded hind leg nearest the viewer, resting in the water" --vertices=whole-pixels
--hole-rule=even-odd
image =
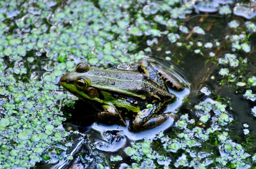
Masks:
[[[159,126],[167,121],[169,117],[177,118],[176,115],[168,113],[159,114],[153,117],[153,115],[155,115],[155,110],[156,108],[154,106],[152,108],[142,110],[138,115],[136,115],[134,121],[130,123],[130,129],[134,132],[139,132]]]

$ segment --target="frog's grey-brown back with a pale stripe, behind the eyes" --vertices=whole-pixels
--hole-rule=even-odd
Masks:
[[[159,100],[173,99],[174,96],[148,78],[146,74],[125,70],[101,70],[92,68],[85,75],[91,79],[91,86],[100,91],[131,95],[140,99],[154,97]]]

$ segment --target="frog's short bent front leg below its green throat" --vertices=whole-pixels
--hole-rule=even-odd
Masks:
[[[125,126],[127,126],[125,120],[122,118],[120,112],[116,109],[116,106],[114,105],[103,105],[102,106],[104,111],[100,112],[97,115],[97,119],[99,119],[101,122],[105,122],[106,120],[113,121],[113,119],[117,119],[118,117],[121,118],[121,121]]]

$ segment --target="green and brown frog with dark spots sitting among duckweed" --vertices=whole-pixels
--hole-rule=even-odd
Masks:
[[[168,87],[184,90],[184,84],[170,72],[146,59],[112,69],[80,63],[59,82],[79,99],[100,104],[102,112],[97,114],[100,121],[120,119],[126,125],[124,118],[130,117],[129,129],[134,132],[167,121],[172,114],[161,112],[176,99]]]

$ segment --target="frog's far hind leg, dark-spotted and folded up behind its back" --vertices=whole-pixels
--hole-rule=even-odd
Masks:
[[[139,70],[140,72],[147,74],[148,77],[155,79],[159,82],[156,75],[158,74],[170,88],[173,88],[177,91],[184,90],[183,84],[176,77],[174,77],[174,75],[172,75],[169,71],[162,68],[160,65],[155,64],[153,61],[140,60]]]

